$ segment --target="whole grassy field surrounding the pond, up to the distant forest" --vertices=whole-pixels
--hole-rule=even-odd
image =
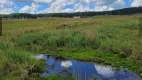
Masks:
[[[31,56],[41,53],[123,66],[142,75],[138,16],[4,19],[0,78],[40,80],[44,61]]]

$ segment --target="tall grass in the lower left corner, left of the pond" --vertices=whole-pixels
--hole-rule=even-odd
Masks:
[[[4,41],[3,43],[0,42],[0,44],[1,80],[30,79],[34,73],[39,74],[42,71],[43,67],[41,66],[43,64],[32,58],[29,52],[13,48],[10,43]]]

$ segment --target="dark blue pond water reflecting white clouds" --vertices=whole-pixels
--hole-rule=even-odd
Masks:
[[[39,55],[37,58],[46,60],[47,71],[42,74],[44,77],[57,74],[63,77],[73,75],[76,80],[95,80],[94,78],[97,80],[141,80],[136,73],[128,69],[113,70],[112,67],[106,65],[50,55]]]

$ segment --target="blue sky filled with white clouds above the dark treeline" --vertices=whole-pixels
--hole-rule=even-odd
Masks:
[[[142,6],[142,0],[0,0],[0,14],[109,11]]]

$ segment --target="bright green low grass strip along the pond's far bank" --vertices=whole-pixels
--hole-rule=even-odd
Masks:
[[[100,53],[98,51],[73,51],[73,52],[60,52],[58,56],[63,56],[65,58],[73,58],[81,61],[90,61],[96,63],[102,63],[105,65],[111,65],[114,68],[128,68],[131,71],[137,72],[139,70],[138,65],[136,65],[133,60],[121,58],[119,55],[110,53]]]

